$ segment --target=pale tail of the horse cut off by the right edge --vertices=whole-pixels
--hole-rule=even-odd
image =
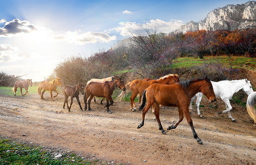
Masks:
[[[256,92],[252,92],[247,98],[247,112],[249,116],[254,120],[254,124],[256,125],[256,110],[255,110],[255,104],[256,104]]]

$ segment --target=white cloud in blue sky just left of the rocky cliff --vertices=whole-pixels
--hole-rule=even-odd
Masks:
[[[110,29],[110,31],[115,30],[117,32],[120,32],[120,35],[122,36],[131,36],[131,34],[142,35],[142,33],[145,32],[144,29],[157,30],[158,32],[168,33],[178,29],[183,24],[184,23],[181,20],[170,20],[166,22],[161,19],[156,19],[145,21],[145,23],[141,24],[126,21],[119,23],[119,27]]]

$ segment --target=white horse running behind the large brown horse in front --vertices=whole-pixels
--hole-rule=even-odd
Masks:
[[[211,81],[211,84],[212,84],[212,87],[214,87],[216,98],[221,98],[221,100],[225,102],[225,105],[227,108],[222,112],[219,111],[218,114],[227,112],[228,117],[232,119],[232,122],[236,122],[236,119],[232,118],[230,113],[232,109],[230,105],[230,100],[232,99],[234,93],[238,92],[241,89],[244,92],[246,92],[247,95],[252,94],[253,89],[252,89],[252,85],[250,85],[250,81],[248,81],[247,79],[232,80],[232,81],[223,80],[218,82]],[[197,98],[195,105],[196,105],[196,110],[198,111],[198,115],[200,116],[200,118],[204,118],[204,116],[202,116],[202,114],[200,113],[200,109],[199,109],[199,105],[202,100],[201,92],[199,92],[198,94],[196,94],[194,97],[191,98],[189,109],[190,110],[193,109],[192,102],[195,100],[195,98]]]

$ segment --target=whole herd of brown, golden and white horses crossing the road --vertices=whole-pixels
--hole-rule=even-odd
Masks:
[[[28,94],[28,87],[32,86],[32,80],[27,79],[24,81],[16,81],[13,87],[13,91],[15,92],[14,96],[17,93],[17,88],[20,87],[20,92],[22,94],[22,89],[26,90],[25,94]],[[57,86],[62,87],[61,79],[56,78],[52,81],[41,81],[38,86],[38,94],[41,96],[41,99],[44,99],[44,92],[50,91],[51,100],[52,97],[56,97],[58,95]],[[77,85],[66,85],[62,88],[63,95],[65,96],[63,108],[67,105],[68,112],[70,112],[73,98],[76,97],[78,105],[83,111],[81,103],[79,101],[79,93],[83,95],[84,100],[84,111],[87,110],[87,100],[88,100],[88,110],[92,111],[90,107],[90,102],[95,97],[103,97],[106,99],[106,110],[108,113],[112,113],[109,109],[109,106],[113,105],[114,101],[111,97],[113,91],[116,87],[119,87],[122,92],[118,96],[120,100],[124,98],[127,92],[131,91],[131,105],[130,110],[136,111],[135,105],[135,97],[140,94],[139,103],[142,103],[138,108],[139,111],[142,112],[142,121],[137,128],[141,128],[145,122],[145,115],[152,107],[152,112],[156,116],[157,123],[159,126],[159,130],[162,131],[163,134],[166,134],[166,131],[163,129],[161,121],[159,119],[159,111],[161,106],[168,107],[177,107],[179,120],[172,126],[168,127],[167,130],[175,129],[182,122],[184,116],[190,125],[190,128],[193,132],[193,136],[199,144],[202,144],[201,139],[195,132],[193,127],[193,121],[190,116],[190,110],[192,109],[191,103],[196,100],[196,108],[198,111],[198,115],[201,118],[204,118],[200,113],[199,105],[202,99],[202,95],[205,95],[209,102],[214,102],[216,98],[221,98],[223,102],[225,102],[226,110],[220,111],[218,113],[228,113],[228,117],[231,118],[232,122],[236,122],[236,120],[231,116],[232,106],[230,104],[230,100],[234,93],[239,90],[243,90],[247,95],[247,111],[250,117],[254,120],[254,124],[256,124],[256,111],[255,111],[255,103],[256,103],[256,92],[253,91],[252,85],[250,81],[247,79],[242,80],[223,80],[214,82],[211,81],[207,76],[204,78],[191,79],[188,81],[180,81],[179,76],[177,74],[168,74],[163,76],[157,80],[153,79],[135,79],[131,82],[124,85],[124,81],[119,76],[111,76],[109,78],[104,79],[91,79],[88,81],[87,85],[77,84]],[[55,96],[52,96],[52,91],[56,92]],[[22,94],[23,95],[23,94]],[[23,96],[24,96],[23,95]],[[68,106],[68,97],[71,97],[70,106]],[[101,103],[103,101],[101,100]],[[146,105],[147,101],[147,105]],[[103,104],[103,103],[102,103]],[[145,107],[146,105],[146,107]]]

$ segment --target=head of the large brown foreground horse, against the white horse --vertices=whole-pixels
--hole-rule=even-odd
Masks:
[[[216,96],[214,93],[214,88],[212,87],[211,81],[207,76],[202,79],[201,92],[204,94],[210,102],[216,101]]]

